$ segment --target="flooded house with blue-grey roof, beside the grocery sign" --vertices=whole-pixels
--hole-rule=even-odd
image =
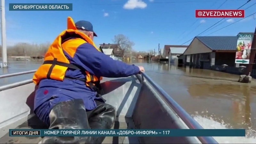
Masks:
[[[237,36],[196,36],[180,58],[183,63],[210,69],[214,65],[235,64]]]

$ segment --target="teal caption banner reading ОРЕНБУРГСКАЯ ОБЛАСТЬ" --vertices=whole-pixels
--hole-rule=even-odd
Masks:
[[[9,11],[72,11],[73,4],[9,4]]]

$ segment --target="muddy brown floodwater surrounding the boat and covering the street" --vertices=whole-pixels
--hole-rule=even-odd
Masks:
[[[34,70],[42,62],[10,62],[0,74]],[[215,137],[219,143],[256,142],[256,80],[238,83],[238,75],[202,69],[189,69],[147,61],[146,73],[180,104],[205,129],[243,128],[246,137]],[[0,85],[31,79],[33,74],[4,78]]]

